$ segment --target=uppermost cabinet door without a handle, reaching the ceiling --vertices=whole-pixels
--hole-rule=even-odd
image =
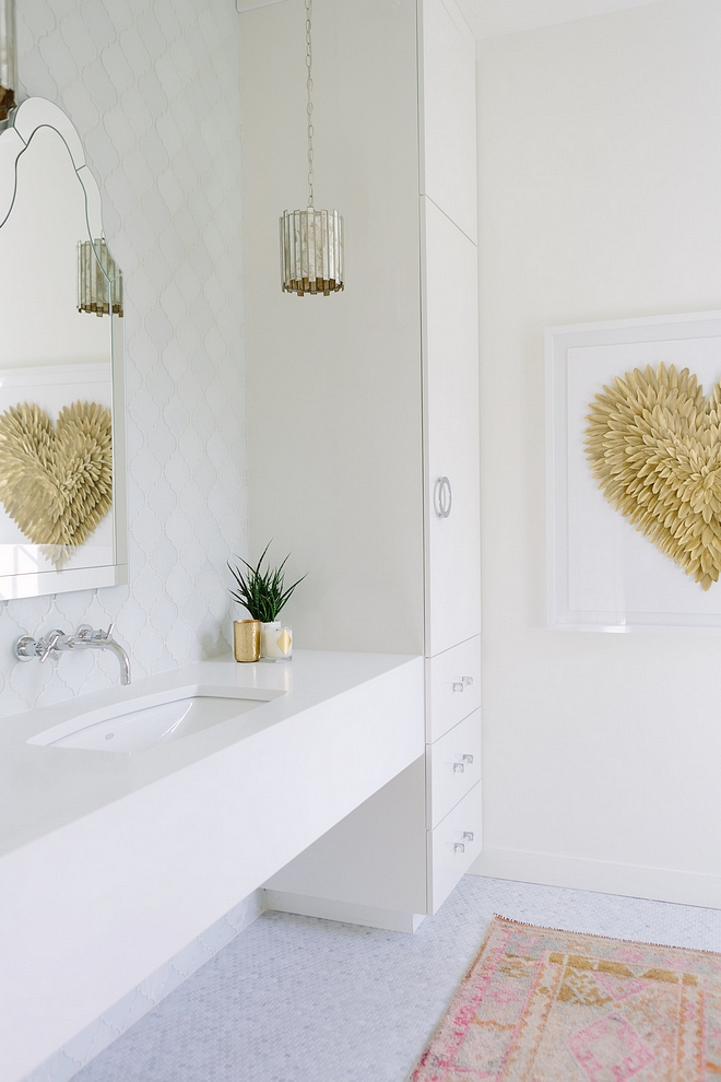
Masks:
[[[421,0],[421,191],[476,240],[475,40],[454,0]]]

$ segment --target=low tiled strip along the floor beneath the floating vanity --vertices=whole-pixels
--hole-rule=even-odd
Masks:
[[[178,985],[245,931],[263,913],[264,907],[264,892],[259,887],[49,1059],[26,1074],[23,1082],[69,1082],[134,1022],[152,1011]]]

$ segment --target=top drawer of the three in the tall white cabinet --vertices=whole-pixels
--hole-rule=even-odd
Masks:
[[[481,706],[481,636],[426,658],[426,740],[433,743]]]

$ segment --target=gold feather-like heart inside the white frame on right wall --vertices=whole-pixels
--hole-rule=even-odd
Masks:
[[[687,575],[721,571],[721,384],[635,368],[590,404],[586,452],[604,496]]]

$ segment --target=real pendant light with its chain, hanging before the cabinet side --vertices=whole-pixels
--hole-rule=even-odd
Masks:
[[[284,211],[281,227],[281,282],[284,293],[322,293],[343,289],[343,217],[314,205],[312,161],[312,0],[306,0],[306,89],[308,103],[308,209]]]

